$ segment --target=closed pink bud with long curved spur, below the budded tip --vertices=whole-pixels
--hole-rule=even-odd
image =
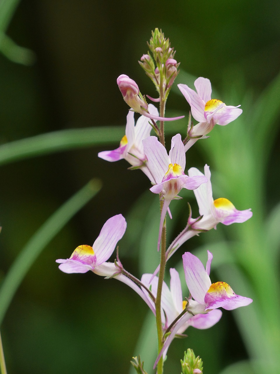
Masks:
[[[159,121],[174,121],[177,119],[184,118],[184,116],[179,117],[172,117],[172,118],[165,118],[155,116],[152,113],[149,113],[149,108],[146,100],[144,99],[143,95],[141,95],[139,91],[139,87],[137,83],[128,77],[125,74],[121,74],[117,78],[117,84],[119,86],[119,90],[122,93],[124,101],[133,109],[135,112],[142,114],[145,117],[148,117],[153,120]]]

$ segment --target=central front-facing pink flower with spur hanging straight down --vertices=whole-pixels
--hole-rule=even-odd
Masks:
[[[192,177],[189,177],[184,173],[186,155],[180,134],[172,138],[169,155],[156,137],[149,137],[143,140],[143,145],[144,153],[148,159],[149,170],[156,182],[155,186],[151,187],[150,190],[153,193],[159,193],[164,200],[159,224],[159,250],[164,218],[171,200],[177,197],[182,188],[195,190],[200,184],[206,183],[207,179],[204,175],[192,175]]]

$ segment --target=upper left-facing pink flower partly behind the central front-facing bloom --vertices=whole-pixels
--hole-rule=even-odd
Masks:
[[[158,110],[153,104],[148,105],[149,113],[158,115]],[[144,174],[155,183],[149,169],[146,167],[147,157],[144,154],[142,140],[150,136],[152,126],[149,123],[150,119],[140,116],[134,122],[134,112],[129,111],[127,115],[127,125],[125,127],[125,135],[121,139],[119,147],[112,151],[103,151],[98,153],[98,157],[115,162],[121,159],[127,160],[130,165],[141,168]]]

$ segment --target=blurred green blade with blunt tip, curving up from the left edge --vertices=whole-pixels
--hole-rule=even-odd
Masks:
[[[16,290],[28,270],[63,226],[100,190],[99,180],[91,180],[74,196],[67,200],[40,227],[24,246],[12,264],[0,288],[0,324]]]

